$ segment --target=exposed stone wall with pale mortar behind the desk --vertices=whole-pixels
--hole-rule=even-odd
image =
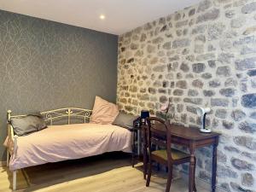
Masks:
[[[171,101],[172,122],[222,133],[218,186],[256,191],[256,2],[205,0],[119,37],[118,104],[128,113]],[[196,175],[210,182],[211,148]],[[183,166],[186,170],[188,166]]]

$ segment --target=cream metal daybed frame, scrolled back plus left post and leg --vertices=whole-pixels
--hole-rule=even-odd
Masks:
[[[92,110],[84,109],[84,108],[58,108],[50,111],[41,112],[44,117],[44,121],[49,123],[49,125],[53,125],[53,121],[56,119],[65,119],[67,118],[67,125],[70,124],[71,118],[79,118],[83,119],[84,123],[90,121],[90,115]],[[15,153],[17,148],[17,139],[18,136],[15,135],[13,126],[10,124],[12,118],[15,117],[25,117],[26,115],[12,115],[12,111],[7,111],[7,134],[9,140],[13,143],[13,150],[11,148],[7,149],[7,166],[9,166],[9,158],[10,155]],[[16,189],[16,175],[17,170],[13,171],[13,190]]]

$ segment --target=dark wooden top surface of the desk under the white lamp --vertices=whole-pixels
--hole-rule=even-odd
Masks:
[[[154,125],[159,131],[165,131],[163,125]],[[212,137],[220,136],[217,132],[203,133],[197,128],[185,127],[183,125],[171,125],[172,137],[181,137],[189,140],[205,140]]]

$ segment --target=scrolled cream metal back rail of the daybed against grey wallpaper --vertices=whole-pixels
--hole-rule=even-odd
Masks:
[[[10,121],[11,118],[24,117],[26,115],[12,115],[12,111],[8,110],[7,119]],[[41,112],[44,117],[44,121],[53,125],[55,120],[67,119],[67,124],[69,125],[72,118],[83,119],[84,123],[89,122],[92,110],[84,108],[59,108],[50,111]]]

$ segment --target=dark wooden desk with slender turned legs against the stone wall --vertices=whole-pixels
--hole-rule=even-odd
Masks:
[[[147,126],[144,126],[147,127]],[[165,131],[165,127],[154,125],[159,131]],[[147,138],[146,129],[143,129],[144,141]],[[172,143],[189,148],[191,155],[189,165],[189,192],[193,192],[194,172],[195,172],[195,149],[212,145],[212,192],[216,189],[216,171],[217,171],[217,147],[218,137],[220,134],[216,132],[201,133],[199,129],[184,127],[182,125],[172,125]],[[143,142],[143,167],[147,172],[147,142]],[[144,175],[145,177],[145,175]]]

